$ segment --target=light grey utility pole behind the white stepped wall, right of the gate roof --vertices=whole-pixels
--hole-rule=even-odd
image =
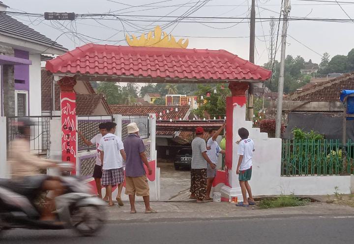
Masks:
[[[281,47],[279,83],[278,83],[278,104],[277,104],[276,124],[275,124],[275,137],[277,137],[277,138],[281,137],[281,124],[282,124],[282,111],[283,111],[283,90],[284,90],[285,48],[286,48],[286,37],[287,37],[287,30],[288,30],[288,16],[289,16],[290,9],[291,9],[290,0],[284,0],[282,47]]]

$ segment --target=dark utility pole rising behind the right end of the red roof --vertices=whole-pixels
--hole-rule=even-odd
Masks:
[[[255,50],[255,29],[256,29],[256,8],[255,8],[255,1],[252,0],[251,5],[251,21],[250,21],[250,56],[249,61],[254,63],[254,50]],[[247,108],[247,115],[248,120],[253,121],[253,83],[249,83],[248,87],[248,108]]]

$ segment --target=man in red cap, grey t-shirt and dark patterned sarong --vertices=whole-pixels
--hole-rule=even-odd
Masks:
[[[191,169],[191,188],[190,198],[196,199],[197,203],[206,203],[207,193],[207,164],[211,169],[215,165],[207,156],[207,145],[203,138],[204,129],[197,127],[196,137],[192,141],[192,169]]]

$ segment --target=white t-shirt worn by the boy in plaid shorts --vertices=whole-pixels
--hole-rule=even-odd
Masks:
[[[98,146],[98,150],[104,153],[102,169],[109,170],[123,167],[123,157],[120,154],[122,149],[124,149],[124,145],[118,136],[112,133],[103,136]]]

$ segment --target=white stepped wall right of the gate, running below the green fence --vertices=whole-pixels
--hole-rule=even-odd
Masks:
[[[333,194],[335,187],[338,193],[354,192],[354,176],[281,176],[282,141],[279,138],[268,138],[259,128],[252,128],[252,122],[245,121],[246,106],[234,105],[233,142],[239,140],[237,130],[245,127],[249,130],[249,138],[255,142],[252,158],[252,178],[250,185],[254,195],[326,195]],[[238,162],[238,145],[233,143],[233,168],[229,171],[231,187],[224,185],[221,192],[224,197],[237,196],[242,201],[242,194],[236,175]]]

